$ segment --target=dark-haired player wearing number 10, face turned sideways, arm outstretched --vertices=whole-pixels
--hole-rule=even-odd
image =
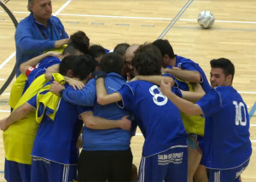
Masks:
[[[210,63],[212,90],[195,104],[172,94],[170,83],[162,82],[160,88],[181,111],[206,118],[202,163],[209,181],[239,182],[252,154],[247,105],[232,87],[232,62],[220,58]]]

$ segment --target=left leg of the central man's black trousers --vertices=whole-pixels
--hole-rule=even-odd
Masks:
[[[79,181],[106,181],[108,156],[104,151],[84,151],[79,156]]]

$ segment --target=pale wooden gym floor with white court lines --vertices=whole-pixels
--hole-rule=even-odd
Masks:
[[[20,21],[28,15],[27,0],[9,0],[6,6]],[[57,15],[70,35],[82,30],[91,43],[112,49],[117,43],[145,43],[168,39],[176,54],[199,63],[209,76],[212,59],[225,57],[234,62],[233,86],[247,103],[251,122],[253,156],[243,182],[256,181],[256,1],[253,0],[52,0]],[[202,10],[215,15],[212,29],[197,22]],[[0,8],[0,87],[15,65],[15,26]],[[12,84],[12,83],[11,83]],[[0,95],[0,118],[9,115],[10,87]],[[0,131],[0,181],[5,181],[4,150]],[[131,140],[134,162],[139,165],[143,136]]]

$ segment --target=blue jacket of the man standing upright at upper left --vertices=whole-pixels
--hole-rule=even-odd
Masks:
[[[59,18],[51,16],[48,25],[45,28],[44,25],[38,23],[32,13],[20,20],[15,31],[17,76],[20,75],[21,63],[43,54],[45,50],[55,48],[56,40],[68,38]]]

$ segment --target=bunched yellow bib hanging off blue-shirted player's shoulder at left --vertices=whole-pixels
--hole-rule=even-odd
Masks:
[[[61,74],[53,74],[54,80],[60,82],[62,85],[65,83],[65,79]],[[49,117],[52,121],[55,120],[55,113],[61,99],[60,96],[49,92],[50,84],[41,88],[37,96],[37,111],[36,121],[42,122],[44,117]]]

